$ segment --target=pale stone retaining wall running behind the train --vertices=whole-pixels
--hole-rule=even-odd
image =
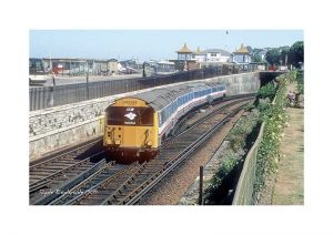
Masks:
[[[224,82],[228,95],[254,93],[260,88],[256,72],[216,76],[208,81]],[[102,135],[104,110],[114,99],[153,89],[155,88],[30,112],[30,160],[39,159],[49,151]]]

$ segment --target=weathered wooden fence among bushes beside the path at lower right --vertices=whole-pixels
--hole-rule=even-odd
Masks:
[[[264,123],[261,125],[258,139],[246,155],[232,205],[254,204],[252,194],[255,181],[256,154],[260,142],[262,141],[264,125]]]

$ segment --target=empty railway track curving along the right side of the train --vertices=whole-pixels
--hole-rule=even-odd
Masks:
[[[165,142],[160,154],[143,164],[133,163],[99,183],[83,183],[82,194],[65,204],[135,204],[148,191],[200,147],[213,133],[249,103],[251,98],[230,102]],[[226,110],[228,109],[228,110]],[[93,182],[91,178],[89,182]],[[81,188],[73,188],[79,190]],[[59,201],[60,202],[60,201]]]

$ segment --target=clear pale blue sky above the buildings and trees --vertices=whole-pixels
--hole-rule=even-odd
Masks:
[[[170,60],[184,43],[233,52],[241,43],[274,48],[300,40],[303,30],[30,30],[29,57]]]

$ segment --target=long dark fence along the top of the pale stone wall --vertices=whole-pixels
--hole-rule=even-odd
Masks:
[[[236,72],[238,71],[234,67],[231,68],[223,65],[219,68],[206,68],[203,70],[193,70],[160,76],[30,88],[29,109],[30,111],[41,110],[158,85],[208,79],[218,75],[228,75]]]

